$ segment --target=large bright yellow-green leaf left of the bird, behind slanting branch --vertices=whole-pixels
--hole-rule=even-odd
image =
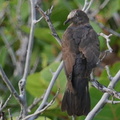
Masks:
[[[52,63],[48,67],[41,70],[39,73],[34,73],[32,75],[28,76],[27,80],[27,90],[29,93],[31,93],[35,97],[39,97],[43,95],[45,90],[48,87],[48,84],[52,78],[52,74],[50,72],[50,69],[52,71],[56,71],[59,63]]]

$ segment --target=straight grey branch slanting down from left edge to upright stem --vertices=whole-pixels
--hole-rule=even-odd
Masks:
[[[11,94],[13,94],[13,96],[15,97],[15,99],[21,104],[21,98],[19,97],[19,94],[17,93],[17,91],[15,90],[15,88],[13,87],[13,85],[11,84],[11,82],[9,81],[9,79],[7,78],[5,72],[3,71],[2,67],[0,66],[0,76],[2,77],[3,81],[5,82],[5,84],[7,85],[8,89],[10,90]]]

